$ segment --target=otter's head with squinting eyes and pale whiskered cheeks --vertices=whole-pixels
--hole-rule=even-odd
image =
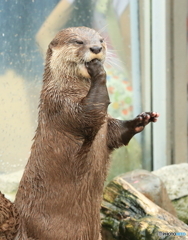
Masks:
[[[74,27],[55,36],[46,60],[56,74],[63,71],[67,75],[79,74],[90,78],[85,63],[95,58],[104,62],[105,56],[106,44],[98,32],[87,27]]]

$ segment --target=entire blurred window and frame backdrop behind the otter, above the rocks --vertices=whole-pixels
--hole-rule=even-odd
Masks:
[[[160,119],[112,155],[107,181],[187,162],[188,0],[1,0],[0,178],[19,181],[30,154],[45,53],[61,29],[105,38],[109,114]]]

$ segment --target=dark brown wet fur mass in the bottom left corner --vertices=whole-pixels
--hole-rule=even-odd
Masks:
[[[13,240],[19,225],[14,204],[0,192],[0,240]]]

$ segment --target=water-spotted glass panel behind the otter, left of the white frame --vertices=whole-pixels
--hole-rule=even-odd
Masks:
[[[105,68],[112,102],[109,114],[130,119],[135,116],[133,112],[140,113],[138,8],[137,1],[130,5],[129,0],[0,2],[2,174],[22,172],[27,162],[37,126],[45,52],[51,39],[62,28],[84,25],[97,29],[105,37],[108,43]],[[134,81],[133,76],[136,76]],[[113,153],[108,179],[142,167],[143,143],[144,138],[140,135],[128,147]],[[147,142],[144,146],[150,144]]]

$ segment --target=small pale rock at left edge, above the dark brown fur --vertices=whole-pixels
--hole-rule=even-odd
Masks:
[[[22,175],[23,170],[0,175],[0,191],[11,201],[14,201]]]

